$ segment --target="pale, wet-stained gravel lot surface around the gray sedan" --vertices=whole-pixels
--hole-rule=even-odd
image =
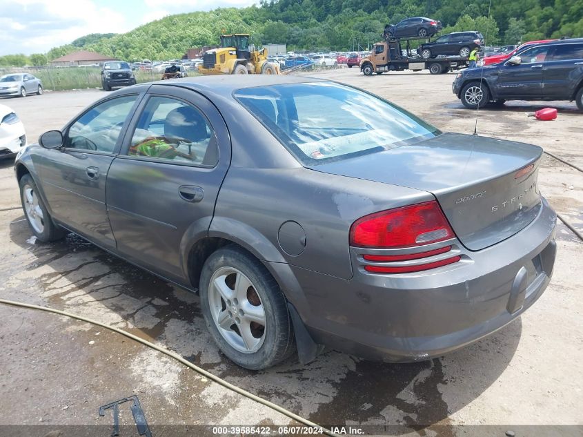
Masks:
[[[313,75],[377,93],[441,130],[473,133],[476,113],[464,109],[451,93],[453,74],[365,77],[352,68]],[[17,111],[34,142],[101,96],[99,90],[79,90],[0,103]],[[527,117],[544,106],[559,109],[557,120]],[[511,102],[480,110],[477,131],[540,145],[583,167],[583,114],[575,104]],[[583,174],[545,156],[540,189],[557,212],[583,232]],[[12,206],[19,206],[19,194],[7,160],[0,162],[0,209]],[[291,360],[258,373],[239,369],[219,355],[210,340],[196,295],[79,237],[39,244],[20,209],[0,212],[0,297],[127,329],[322,425],[375,425],[363,429],[383,435],[504,436],[512,429],[516,436],[581,436],[583,243],[561,223],[557,240],[551,285],[522,318],[471,347],[410,365],[367,362],[330,351],[304,366]],[[34,427],[39,436],[66,429],[63,425],[111,425],[110,414],[98,416],[99,406],[132,394],[139,396],[153,426],[290,423],[118,334],[2,305],[0,320],[0,425],[50,425]],[[122,423],[132,423],[127,406],[121,418]],[[99,435],[109,433],[99,429]],[[137,434],[134,429],[121,435]]]

